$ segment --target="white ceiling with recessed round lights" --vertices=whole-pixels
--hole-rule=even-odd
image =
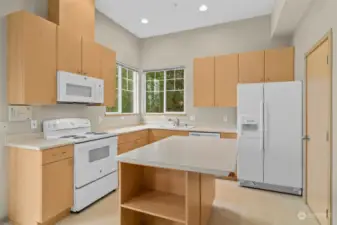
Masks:
[[[208,11],[199,12],[205,4]],[[191,30],[271,14],[275,0],[96,0],[96,8],[137,37]],[[144,25],[141,18],[147,18]]]

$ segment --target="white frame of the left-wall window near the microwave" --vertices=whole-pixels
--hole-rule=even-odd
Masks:
[[[139,71],[135,68],[128,67],[121,63],[116,63],[116,66],[118,68],[118,84],[116,84],[116,89],[118,90],[117,98],[118,98],[118,111],[117,112],[107,112],[107,107],[105,107],[105,115],[107,116],[114,116],[114,115],[136,115],[139,114]],[[123,81],[123,75],[122,75],[122,69],[128,71],[133,71],[133,112],[131,113],[123,113],[122,112],[122,81]],[[116,79],[115,79],[116,80]],[[115,90],[116,91],[116,90]],[[128,91],[128,90],[126,90]]]

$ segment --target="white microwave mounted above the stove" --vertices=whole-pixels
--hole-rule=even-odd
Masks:
[[[57,101],[65,103],[104,103],[104,80],[58,71]]]

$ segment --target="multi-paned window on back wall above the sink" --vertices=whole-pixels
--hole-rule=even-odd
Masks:
[[[184,113],[184,70],[146,72],[146,113]]]

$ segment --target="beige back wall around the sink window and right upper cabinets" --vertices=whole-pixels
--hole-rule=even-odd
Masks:
[[[270,17],[264,16],[213,27],[143,39],[141,43],[142,68],[160,69],[175,66],[186,67],[186,112],[195,115],[197,124],[213,124],[233,127],[236,124],[236,108],[193,107],[193,58],[263,50],[287,46],[288,38],[270,38]],[[227,115],[228,122],[223,122]],[[145,116],[145,121],[162,120],[161,116]],[[192,122],[190,122],[192,123]]]

